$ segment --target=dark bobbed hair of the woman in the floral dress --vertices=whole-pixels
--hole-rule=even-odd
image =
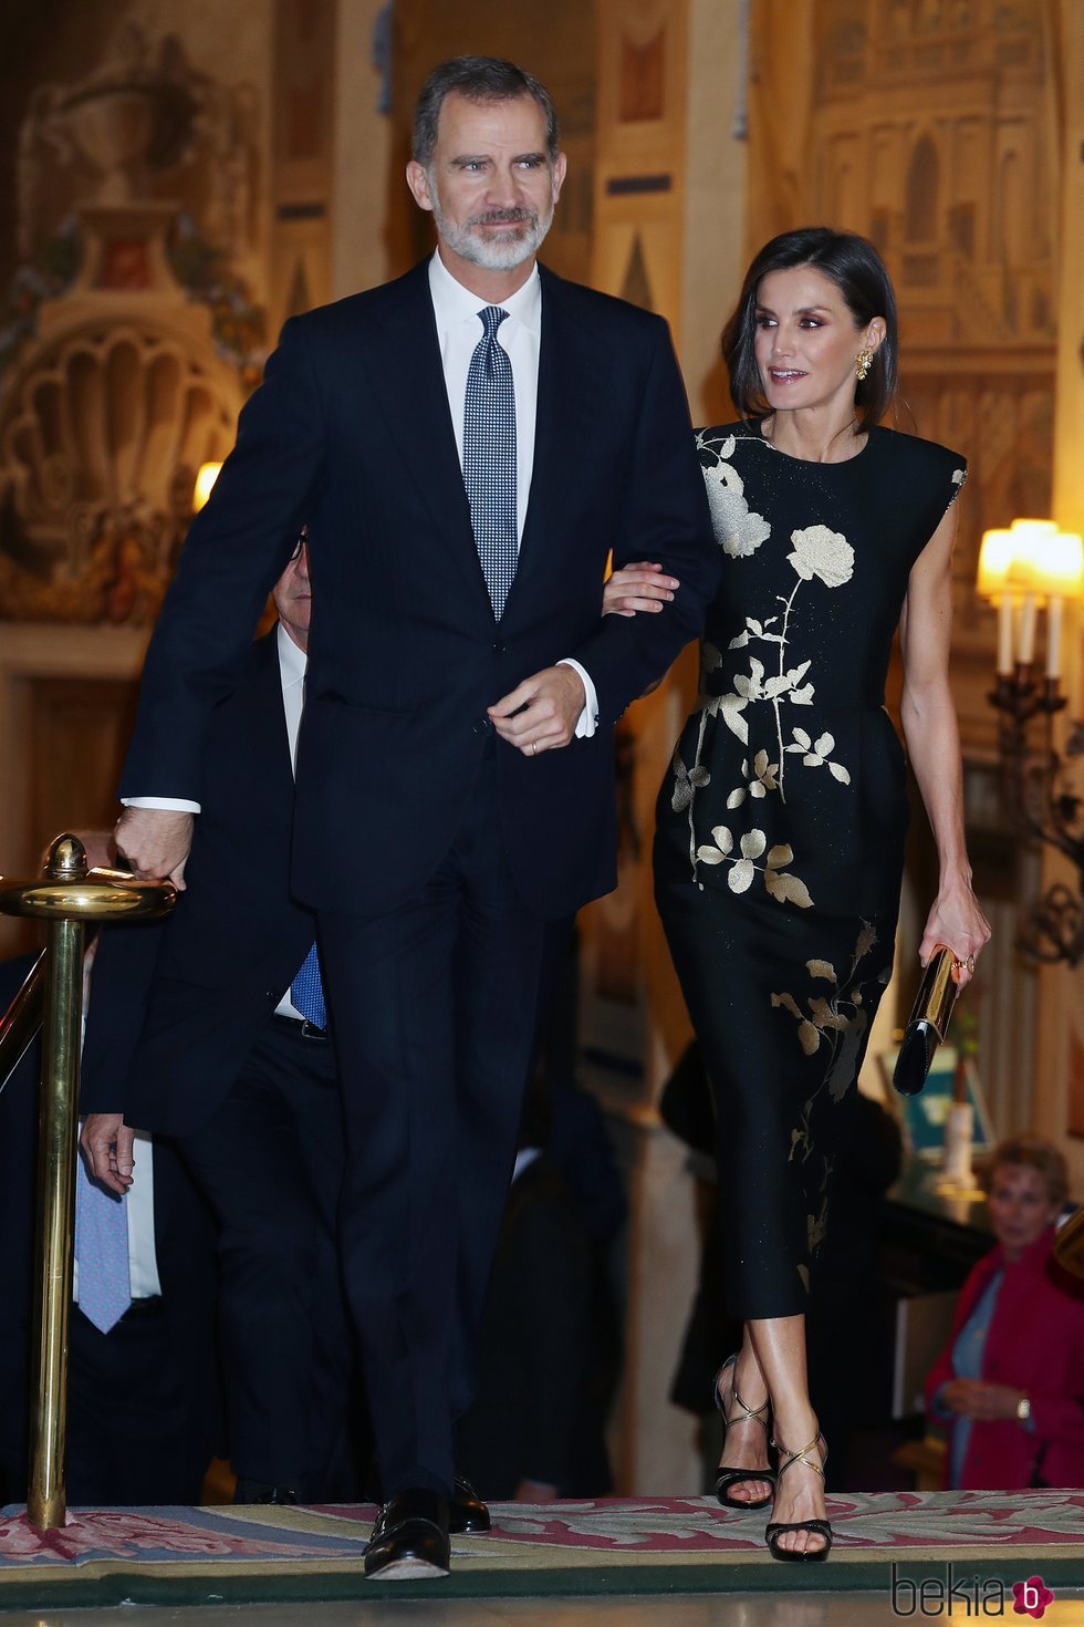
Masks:
[[[855,390],[858,428],[871,430],[895,395],[895,294],[884,260],[873,244],[852,231],[832,231],[829,226],[801,226],[798,231],[780,233],[764,244],[746,272],[738,308],[723,329],[723,361],[735,407],[743,418],[765,418],[770,412],[752,348],[757,290],[769,272],[785,272],[795,265],[813,265],[835,283],[855,327],[865,327],[874,316],[884,317],[884,338],[873,355],[869,373],[858,381]]]

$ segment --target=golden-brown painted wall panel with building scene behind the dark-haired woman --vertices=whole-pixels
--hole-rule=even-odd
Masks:
[[[884,254],[900,308],[899,426],[970,459],[957,639],[983,659],[982,532],[1051,503],[1058,143],[1045,20],[1043,0],[752,10],[749,246],[824,220]],[[808,42],[813,75],[804,52],[780,49],[783,24]]]

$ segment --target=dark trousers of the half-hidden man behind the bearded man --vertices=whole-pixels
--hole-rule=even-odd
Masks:
[[[232,1469],[328,1495],[349,1362],[335,1250],[343,1121],[330,1043],[270,1022],[226,1101],[176,1145],[221,1228]]]

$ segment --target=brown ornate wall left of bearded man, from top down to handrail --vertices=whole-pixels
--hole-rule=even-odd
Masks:
[[[13,203],[0,247],[5,870],[33,867],[57,828],[112,822],[130,687],[195,473],[228,452],[263,360],[263,0],[52,11],[50,33],[24,21],[24,59],[0,60],[3,117],[18,111],[0,187]]]

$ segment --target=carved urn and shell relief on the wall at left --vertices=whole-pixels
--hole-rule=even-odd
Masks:
[[[18,150],[0,329],[0,618],[151,622],[202,462],[232,441],[263,314],[254,93],[124,28],[83,80],[39,86]]]

